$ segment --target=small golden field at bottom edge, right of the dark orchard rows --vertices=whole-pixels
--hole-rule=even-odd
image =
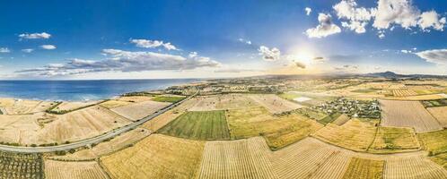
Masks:
[[[96,161],[63,162],[45,160],[45,176],[47,179],[108,179]]]

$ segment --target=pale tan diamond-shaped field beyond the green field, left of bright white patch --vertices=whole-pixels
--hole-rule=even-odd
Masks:
[[[279,98],[273,94],[250,95],[249,97],[253,101],[259,103],[260,106],[266,107],[271,114],[281,114],[302,107],[301,105],[285,100],[284,98]]]

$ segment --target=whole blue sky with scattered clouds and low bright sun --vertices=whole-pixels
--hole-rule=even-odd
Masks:
[[[0,78],[447,74],[446,12],[423,0],[2,1]]]

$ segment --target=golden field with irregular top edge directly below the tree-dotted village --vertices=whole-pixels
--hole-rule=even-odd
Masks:
[[[375,133],[376,127],[373,124],[352,119],[341,126],[327,124],[312,136],[346,149],[366,151],[373,142]]]

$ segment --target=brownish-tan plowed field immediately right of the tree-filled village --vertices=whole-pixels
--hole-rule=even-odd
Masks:
[[[443,129],[418,101],[380,100],[380,104],[382,126],[412,127],[416,132]]]

